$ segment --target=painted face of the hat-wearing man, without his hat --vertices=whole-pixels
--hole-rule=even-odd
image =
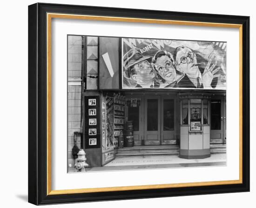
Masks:
[[[141,61],[134,65],[134,69],[136,74],[132,75],[132,79],[142,87],[150,87],[155,78],[155,73],[149,62],[147,60]]]

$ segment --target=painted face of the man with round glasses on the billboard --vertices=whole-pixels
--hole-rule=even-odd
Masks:
[[[176,54],[176,69],[186,73],[190,77],[197,77],[199,68],[196,55],[190,48],[182,48]]]

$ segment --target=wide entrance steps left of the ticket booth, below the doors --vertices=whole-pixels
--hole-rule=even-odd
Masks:
[[[115,156],[179,155],[178,145],[145,145],[118,149]]]

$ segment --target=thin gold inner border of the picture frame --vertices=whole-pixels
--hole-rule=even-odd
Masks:
[[[52,187],[52,180],[51,180],[51,176],[52,176],[52,171],[51,171],[51,165],[52,165],[51,163],[51,112],[52,112],[51,111],[51,72],[52,72],[51,29],[52,27],[51,27],[51,23],[53,18],[239,28],[239,180],[52,190],[51,189]],[[141,19],[141,18],[74,15],[74,14],[64,14],[64,13],[47,13],[47,195],[78,194],[78,193],[93,193],[93,192],[123,191],[123,190],[142,190],[142,189],[163,189],[163,188],[178,188],[178,187],[193,187],[193,186],[195,187],[195,186],[243,183],[243,123],[242,121],[243,121],[243,25],[212,23],[212,22],[209,23],[209,22],[195,22],[195,21],[155,20],[155,19]]]

